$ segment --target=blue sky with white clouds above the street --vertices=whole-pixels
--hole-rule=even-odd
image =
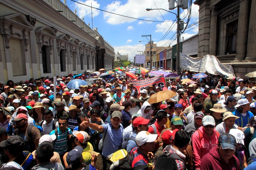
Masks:
[[[63,2],[63,0],[61,1]],[[87,25],[90,23],[91,28],[97,27],[100,35],[114,47],[115,53],[119,52],[121,55],[128,54],[130,61],[134,60],[136,54],[140,54],[138,51],[145,50],[145,44],[148,43],[150,37],[142,37],[142,35],[151,34],[152,41],[160,47],[168,47],[169,45],[172,46],[176,44],[176,15],[170,12],[177,14],[177,10],[168,9],[168,0],[75,1],[80,2],[81,4],[67,0],[66,4],[70,10],[73,12],[76,10],[76,14],[80,18],[84,17],[84,22]],[[82,4],[88,6],[92,5],[94,8],[105,10],[107,12],[90,8]],[[156,10],[146,11],[146,8]],[[157,9],[164,9],[170,12]],[[181,35],[181,39],[183,38],[184,40],[198,33],[199,6],[192,4],[191,9],[191,19],[188,22],[188,26],[190,27]],[[120,14],[122,16],[110,14],[108,12]],[[184,22],[187,22],[188,20],[187,14],[188,10],[180,10],[180,18],[184,19]]]

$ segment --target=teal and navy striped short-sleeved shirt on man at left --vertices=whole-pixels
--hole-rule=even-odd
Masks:
[[[53,130],[49,135],[54,135],[55,131]],[[60,131],[58,127],[58,137],[54,143],[54,151],[58,152],[58,154],[64,154],[68,150],[68,134],[72,134],[72,131],[68,128],[65,133]]]

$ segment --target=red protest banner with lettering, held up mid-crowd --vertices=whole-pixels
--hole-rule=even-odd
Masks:
[[[146,80],[127,80],[127,84],[129,83],[133,84],[133,89],[138,92],[138,96],[140,96],[140,90],[143,90],[143,88],[150,85],[153,87],[158,86],[161,90],[165,87],[164,75],[156,76]]]

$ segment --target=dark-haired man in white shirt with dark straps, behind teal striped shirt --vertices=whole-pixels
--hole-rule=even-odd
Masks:
[[[44,131],[44,135],[49,135],[51,131],[59,127],[58,120],[53,118],[53,113],[50,109],[44,111],[44,120],[40,125]]]

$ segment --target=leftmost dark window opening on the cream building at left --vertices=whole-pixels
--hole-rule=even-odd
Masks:
[[[51,73],[50,47],[42,46],[42,65],[44,73]]]

